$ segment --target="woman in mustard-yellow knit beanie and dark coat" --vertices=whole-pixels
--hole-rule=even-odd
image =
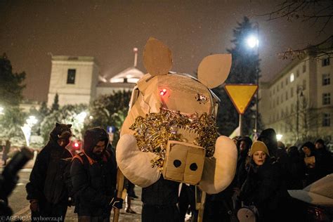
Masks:
[[[251,162],[240,200],[256,207],[258,221],[287,221],[289,194],[280,167],[270,159],[270,152],[261,141],[252,144],[249,155]]]

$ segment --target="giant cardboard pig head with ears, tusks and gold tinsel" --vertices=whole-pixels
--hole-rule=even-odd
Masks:
[[[149,73],[132,92],[117,144],[119,168],[143,188],[163,174],[207,193],[221,192],[235,176],[237,149],[230,138],[218,136],[218,98],[210,89],[228,77],[231,55],[207,56],[195,79],[169,72],[171,51],[150,38],[143,62]]]

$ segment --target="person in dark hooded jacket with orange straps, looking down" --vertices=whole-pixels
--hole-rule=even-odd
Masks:
[[[110,221],[112,207],[121,209],[116,197],[117,164],[107,132],[94,127],[84,134],[84,151],[74,156],[70,169],[78,221]]]

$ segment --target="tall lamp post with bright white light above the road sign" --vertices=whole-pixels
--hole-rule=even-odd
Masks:
[[[255,22],[254,28],[256,29],[256,34],[251,34],[247,38],[247,46],[249,48],[256,48],[256,55],[259,59],[259,23]],[[258,64],[259,66],[259,64]],[[256,85],[258,89],[256,91],[256,116],[254,121],[254,133],[257,132],[258,128],[258,103],[259,103],[259,67],[256,67]]]

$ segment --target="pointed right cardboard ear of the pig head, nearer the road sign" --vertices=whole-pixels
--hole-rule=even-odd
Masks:
[[[230,68],[231,54],[208,55],[197,69],[197,78],[209,89],[213,89],[226,81]]]

